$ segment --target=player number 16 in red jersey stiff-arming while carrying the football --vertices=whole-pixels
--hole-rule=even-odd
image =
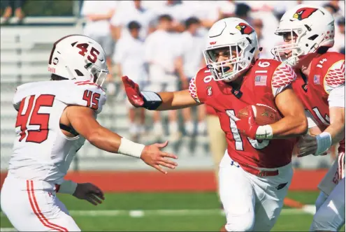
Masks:
[[[202,68],[178,92],[140,92],[122,78],[129,101],[149,110],[175,110],[205,103],[219,116],[227,150],[219,168],[219,194],[226,212],[222,231],[270,231],[291,183],[291,152],[296,136],[306,133],[303,105],[290,85],[291,66],[273,59],[257,59],[257,34],[244,20],[219,20],[208,32]],[[254,112],[238,119],[246,106],[265,104],[282,119],[264,126]]]

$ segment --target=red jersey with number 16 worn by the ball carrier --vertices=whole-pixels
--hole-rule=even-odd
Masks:
[[[227,113],[237,115],[239,110],[256,103],[277,110],[275,96],[295,79],[296,74],[290,66],[273,59],[259,59],[245,74],[240,89],[233,93],[231,85],[213,80],[207,68],[202,68],[192,78],[189,92],[196,101],[216,110],[231,159],[240,166],[278,168],[291,162],[296,139],[252,140],[240,135],[236,123]]]

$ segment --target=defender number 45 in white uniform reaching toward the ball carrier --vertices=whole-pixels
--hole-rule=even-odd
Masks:
[[[90,183],[64,180],[75,153],[85,139],[107,152],[142,159],[166,173],[175,168],[162,152],[166,143],[142,145],[122,138],[96,121],[106,102],[102,89],[108,74],[106,54],[96,41],[82,35],[65,36],[50,53],[50,81],[17,87],[17,137],[8,175],[1,189],[1,209],[17,231],[80,231],[56,193],[73,194],[97,205],[103,192]]]

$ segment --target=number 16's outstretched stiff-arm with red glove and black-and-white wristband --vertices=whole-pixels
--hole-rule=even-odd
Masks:
[[[140,92],[138,85],[127,76],[122,77],[122,82],[130,103],[135,107],[147,110],[178,110],[201,104],[192,98],[187,89],[177,92]]]

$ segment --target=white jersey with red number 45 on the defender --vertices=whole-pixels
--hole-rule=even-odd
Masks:
[[[75,153],[85,138],[69,138],[60,129],[67,106],[92,108],[101,113],[103,89],[87,79],[31,82],[17,87],[13,106],[18,111],[15,143],[8,173],[26,180],[63,182]],[[87,125],[86,125],[87,126]]]

